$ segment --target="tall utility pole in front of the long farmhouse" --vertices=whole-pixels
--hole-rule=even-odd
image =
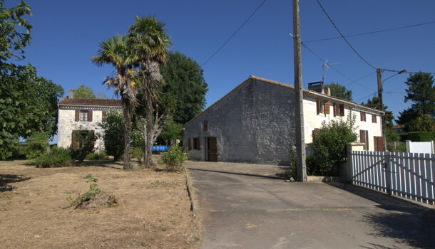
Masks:
[[[296,172],[297,181],[307,181],[305,166],[305,127],[304,127],[304,95],[302,92],[302,62],[300,51],[300,19],[299,0],[293,0],[293,60],[295,64],[295,96],[296,96]]]

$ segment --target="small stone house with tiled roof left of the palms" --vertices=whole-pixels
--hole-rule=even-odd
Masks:
[[[73,133],[77,130],[101,133],[98,123],[110,110],[121,112],[121,100],[73,97],[73,90],[69,90],[68,96],[58,102],[58,147],[76,147]],[[102,138],[97,138],[93,143],[97,152],[104,149]]]

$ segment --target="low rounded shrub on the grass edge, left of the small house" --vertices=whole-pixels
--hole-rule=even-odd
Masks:
[[[53,147],[50,152],[39,155],[33,160],[38,168],[73,166],[70,150],[65,148]]]

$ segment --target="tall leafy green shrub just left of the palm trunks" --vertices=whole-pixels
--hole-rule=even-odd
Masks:
[[[103,128],[103,134],[100,135],[104,139],[104,149],[115,161],[118,161],[124,149],[125,126],[122,113],[110,111],[98,125]]]

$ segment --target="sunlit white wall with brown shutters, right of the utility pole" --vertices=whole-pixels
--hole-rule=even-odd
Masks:
[[[363,111],[366,113],[366,121],[361,121],[361,107],[352,106],[344,104],[344,116],[335,116],[333,111],[334,100],[329,100],[329,114],[319,113],[317,114],[317,98],[315,97],[304,97],[304,125],[305,125],[305,143],[309,144],[312,142],[312,133],[315,128],[322,127],[322,122],[330,122],[331,120],[347,120],[349,115],[355,115],[355,126],[358,134],[359,142],[359,130],[367,130],[369,134],[369,150],[374,150],[374,137],[382,137],[382,122],[379,112],[370,112],[367,109]],[[326,99],[325,99],[326,100]],[[337,105],[342,102],[335,102]],[[325,106],[325,108],[327,108]],[[376,115],[377,122],[372,122],[372,114]]]

